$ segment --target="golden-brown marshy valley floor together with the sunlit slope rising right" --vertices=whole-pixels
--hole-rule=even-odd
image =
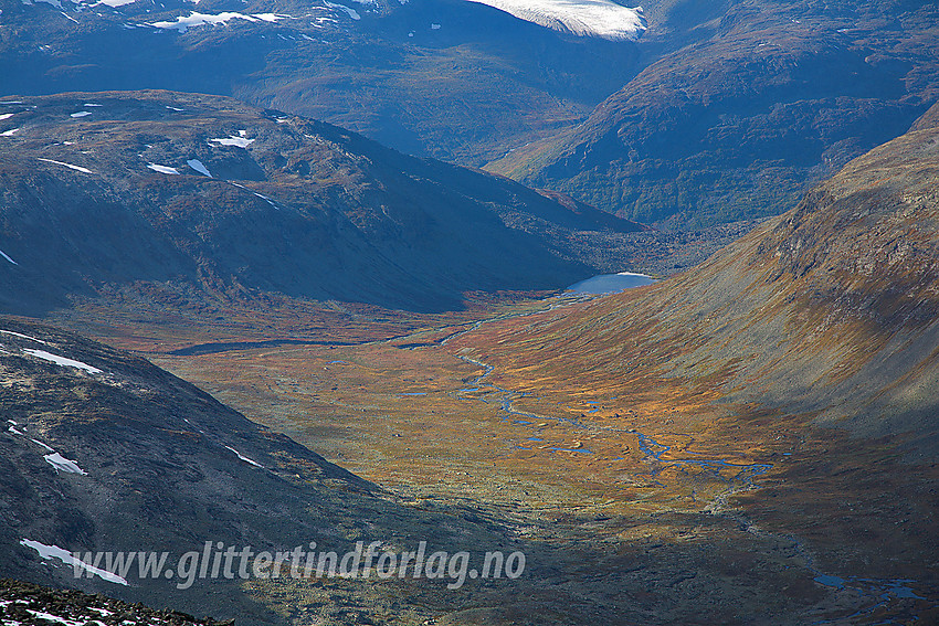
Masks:
[[[169,350],[133,322],[107,341],[567,572],[497,604],[451,597],[440,623],[928,623],[937,132],[930,113],[699,267],[621,295],[356,346]]]

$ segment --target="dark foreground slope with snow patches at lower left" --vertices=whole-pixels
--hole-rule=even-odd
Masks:
[[[330,585],[327,579],[295,580],[285,566],[285,580],[272,582],[272,591],[260,577],[249,583],[217,569],[214,577],[200,579],[190,569],[190,580],[182,564],[175,567],[184,553],[201,553],[205,542],[274,554],[315,541],[319,551],[341,555],[356,541],[377,540],[382,550],[399,552],[420,541],[451,551],[498,550],[515,541],[458,507],[435,512],[405,506],[149,362],[45,325],[0,320],[0,405],[2,577],[240,624],[370,623],[360,620],[365,615],[420,623],[466,597],[436,580],[420,581],[420,588],[413,581],[382,581],[376,588],[367,581]],[[160,572],[170,573],[144,575],[134,561],[119,572],[92,556],[89,564],[106,571],[80,571],[76,577],[70,558],[81,552],[84,559],[88,551],[106,551],[107,559],[120,551],[168,552]],[[302,572],[305,561],[296,563]],[[239,566],[235,560],[231,572]],[[181,587],[188,580],[191,586]],[[487,586],[496,597],[503,593],[498,581]],[[291,600],[281,606],[283,597]],[[403,597],[413,605],[402,606]],[[7,604],[0,600],[4,619],[42,612]],[[83,623],[74,608],[67,608],[73,620],[67,624]],[[171,614],[152,620],[139,613],[120,623],[141,617],[148,624],[180,623]]]

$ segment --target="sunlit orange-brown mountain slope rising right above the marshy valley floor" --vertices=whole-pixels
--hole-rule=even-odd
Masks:
[[[677,380],[689,393],[906,442],[911,458],[935,463],[937,123],[939,105],[703,265],[495,352],[567,389]]]

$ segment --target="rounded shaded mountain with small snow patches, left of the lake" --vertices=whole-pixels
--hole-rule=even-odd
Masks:
[[[181,307],[276,293],[440,310],[467,290],[557,289],[592,273],[538,227],[643,229],[225,98],[64,94],[0,107],[8,312],[122,288]]]

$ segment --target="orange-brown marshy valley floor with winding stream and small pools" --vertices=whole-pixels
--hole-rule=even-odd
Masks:
[[[345,590],[337,598],[383,606],[371,613],[380,623],[939,616],[935,467],[905,461],[896,444],[812,427],[810,415],[722,404],[708,381],[637,369],[589,389],[580,372],[531,379],[500,352],[506,338],[581,306],[516,299],[453,315],[383,311],[373,323],[360,314],[351,330],[333,320],[335,331],[302,336],[284,332],[287,315],[267,320],[270,335],[242,332],[263,328],[249,319],[200,330],[127,319],[98,337],[409,506],[489,521],[536,552],[526,576],[497,588],[331,585]],[[296,582],[250,586],[289,611],[310,597]],[[423,612],[398,614],[398,602]]]

